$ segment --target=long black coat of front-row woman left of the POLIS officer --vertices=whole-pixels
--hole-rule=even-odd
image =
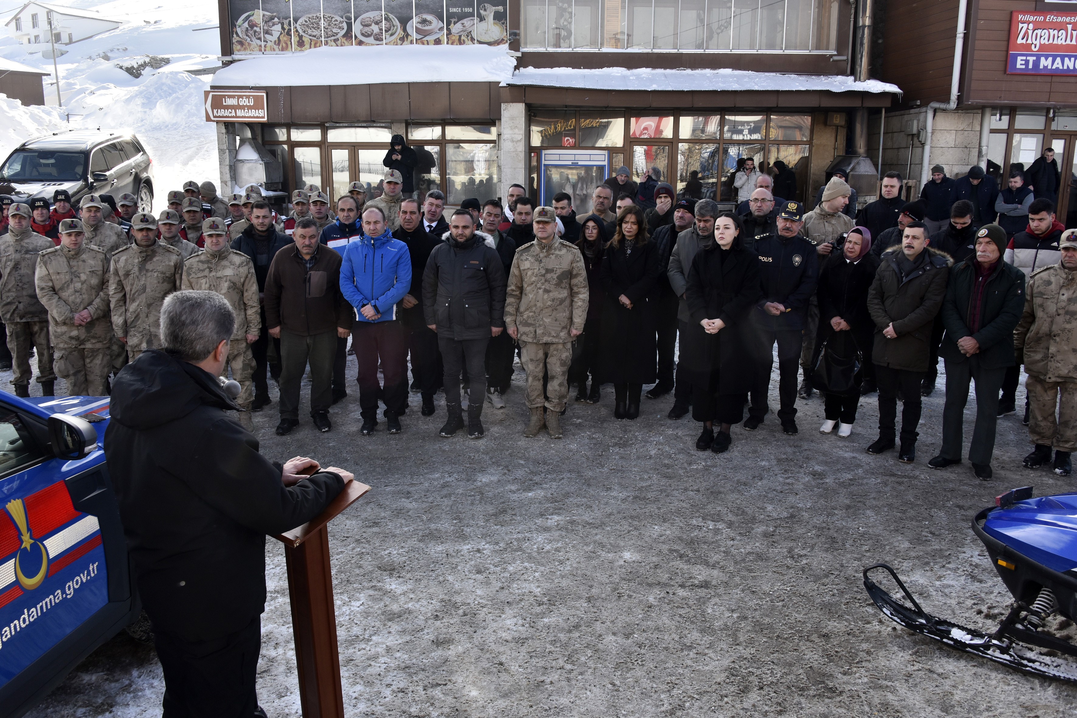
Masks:
[[[723,252],[714,242],[696,253],[685,291],[691,321],[682,361],[695,371],[717,369],[719,394],[746,394],[755,379],[755,366],[746,357],[754,347],[749,320],[759,295],[755,252],[743,247]],[[707,334],[699,324],[704,319],[721,319],[726,326]]]

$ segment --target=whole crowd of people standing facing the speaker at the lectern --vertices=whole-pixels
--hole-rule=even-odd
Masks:
[[[1020,170],[998,191],[979,167],[954,181],[937,166],[914,201],[889,172],[858,211],[840,172],[811,211],[775,198],[770,174],[754,172],[728,212],[658,172],[634,183],[620,168],[595,187],[584,217],[571,195],[542,207],[520,185],[507,207],[468,199],[446,217],[439,191],[405,191],[404,150],[387,154],[380,196],[367,201],[356,182],[332,202],[309,185],[292,193],[288,216],[256,186],[225,200],[209,182],[169,193],[157,216],[128,195],[87,195],[78,209],[61,191],[52,202],[3,198],[0,318],[16,394],[29,395],[34,351],[43,394],[56,376],[71,394],[107,394],[110,377],[162,346],[165,298],[202,290],[237,318],[224,374],[241,386],[248,430],[250,412],[271,403],[269,377],[280,388],[277,434],[299,424],[309,367],[311,421],[332,431],[354,354],[362,435],[380,418],[402,432],[409,391],[434,414],[443,391],[439,434],[479,438],[484,406],[504,408],[518,356],[524,436],[562,436],[572,386],[576,402],[597,404],[613,384],[614,417],[631,421],[649,385],[647,398],[673,395],[670,419],[690,412],[702,425],[697,449],[722,453],[731,426],[755,431],[770,413],[777,355],[783,433],[798,433],[797,402],[817,391],[820,432],[849,437],[862,397],[877,392],[867,452],[897,449],[912,462],[941,357],[942,444],[929,466],[961,462],[975,381],[968,460],[992,476],[996,420],[1017,410],[1024,366],[1035,445],[1024,464],[1071,471],[1077,230],[1064,230],[1048,193]]]

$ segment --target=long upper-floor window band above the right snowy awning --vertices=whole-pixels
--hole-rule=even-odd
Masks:
[[[524,50],[836,51],[839,0],[522,0]]]

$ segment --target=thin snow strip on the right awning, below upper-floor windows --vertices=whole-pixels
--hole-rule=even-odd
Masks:
[[[856,82],[849,75],[784,74],[747,70],[652,70],[647,68],[520,68],[506,85],[578,89],[642,90],[829,90],[831,93],[896,93],[897,85],[878,80]]]

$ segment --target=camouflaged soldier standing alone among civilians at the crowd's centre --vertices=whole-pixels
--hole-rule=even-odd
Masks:
[[[537,207],[535,241],[516,250],[505,295],[505,328],[520,342],[520,363],[528,374],[531,422],[523,436],[535,436],[545,423],[561,438],[561,411],[569,397],[572,340],[587,320],[587,269],[575,245],[557,238],[553,208]],[[549,372],[543,398],[543,375]],[[546,407],[545,421],[543,406]]]

